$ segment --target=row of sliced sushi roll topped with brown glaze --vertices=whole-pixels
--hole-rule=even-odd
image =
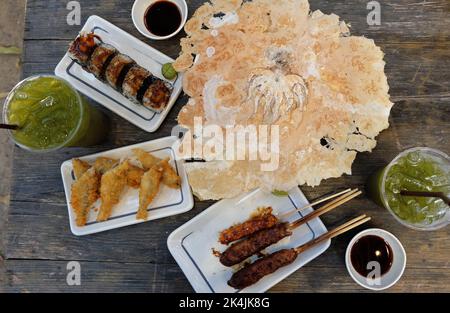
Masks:
[[[70,45],[69,55],[97,79],[137,104],[161,113],[169,103],[172,93],[169,83],[103,43],[97,35],[80,35]]]

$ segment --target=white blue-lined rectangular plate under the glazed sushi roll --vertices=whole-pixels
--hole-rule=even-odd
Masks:
[[[105,43],[131,57],[153,75],[168,81],[162,76],[161,67],[174,60],[108,21],[93,15],[89,17],[81,32],[94,32]],[[161,126],[182,90],[182,74],[179,74],[175,81],[169,81],[174,86],[172,96],[167,108],[158,114],[142,105],[135,104],[108,84],[99,81],[73,61],[67,53],[56,66],[55,74],[69,81],[81,93],[150,133],[155,132]]]

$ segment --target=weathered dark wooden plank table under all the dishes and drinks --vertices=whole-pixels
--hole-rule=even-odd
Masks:
[[[51,73],[80,26],[68,26],[67,1],[29,0],[27,5],[23,76]],[[188,0],[193,12],[203,1]],[[396,105],[391,127],[378,138],[373,153],[358,155],[353,176],[332,179],[320,187],[302,188],[307,197],[348,187],[364,187],[368,175],[397,153],[414,146],[429,146],[447,153],[450,118],[450,2],[381,1],[381,26],[368,26],[368,1],[316,0],[313,9],[336,13],[352,25],[352,33],[373,38],[386,53],[386,72]],[[82,23],[99,15],[144,40],[134,28],[132,1],[83,0]],[[150,43],[172,57],[182,35]],[[71,234],[59,173],[72,157],[144,142],[170,134],[187,98],[181,97],[161,129],[148,134],[111,115],[113,130],[107,143],[90,149],[67,149],[46,155],[15,149],[14,182],[6,230],[6,284],[0,291],[67,292],[191,292],[187,279],[166,247],[167,236],[212,202],[196,202],[184,215],[78,238]],[[399,225],[389,213],[365,197],[327,215],[336,225],[357,213],[373,216],[370,226],[397,235],[408,254],[406,272],[393,292],[450,292],[450,228],[416,232]],[[335,240],[322,256],[272,289],[273,292],[363,291],[347,274],[344,252],[352,235]],[[66,284],[68,261],[79,261],[81,286]]]

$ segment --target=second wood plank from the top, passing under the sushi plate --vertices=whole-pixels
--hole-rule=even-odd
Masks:
[[[26,41],[24,75],[53,72],[68,44],[68,41]],[[391,96],[450,96],[450,41],[440,46],[433,43],[398,43],[382,44],[381,48],[386,54],[386,75]],[[176,57],[179,47],[172,45],[161,51]]]

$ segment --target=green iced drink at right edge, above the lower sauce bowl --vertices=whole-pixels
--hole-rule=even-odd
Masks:
[[[450,158],[431,148],[398,155],[369,178],[367,191],[400,223],[415,230],[437,230],[450,224],[450,207],[440,198],[403,196],[401,191],[442,192],[450,196]]]

